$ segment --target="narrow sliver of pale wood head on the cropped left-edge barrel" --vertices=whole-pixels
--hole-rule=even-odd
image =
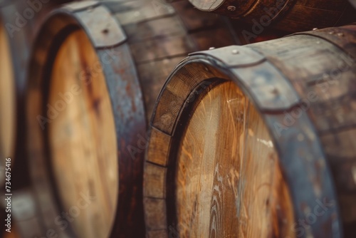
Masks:
[[[0,182],[5,184],[5,158],[14,159],[16,133],[16,88],[9,39],[0,21]],[[14,162],[14,161],[12,161]]]

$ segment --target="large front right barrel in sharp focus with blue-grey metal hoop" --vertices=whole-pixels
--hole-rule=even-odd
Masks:
[[[147,237],[355,237],[356,25],[192,53],[152,113]]]

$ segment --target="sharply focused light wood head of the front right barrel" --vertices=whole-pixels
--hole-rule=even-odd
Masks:
[[[216,86],[199,102],[177,157],[180,237],[295,237],[276,149],[234,83]]]

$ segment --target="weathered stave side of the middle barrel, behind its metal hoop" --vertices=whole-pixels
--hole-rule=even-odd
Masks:
[[[122,11],[122,9],[128,9]],[[188,53],[235,44],[220,17],[206,15],[187,3],[128,1],[115,17],[125,29],[142,83],[147,120],[164,80]]]

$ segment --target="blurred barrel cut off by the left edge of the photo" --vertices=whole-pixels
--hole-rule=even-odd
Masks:
[[[11,158],[12,168],[16,167],[19,172],[11,180],[12,189],[26,181],[22,172],[26,170],[26,141],[23,136],[26,129],[23,118],[28,55],[43,16],[63,2],[65,0],[0,1],[1,187],[4,185],[5,158]]]

